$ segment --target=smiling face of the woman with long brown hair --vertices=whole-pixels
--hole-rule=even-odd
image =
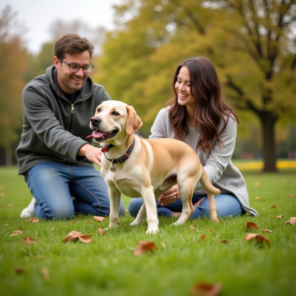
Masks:
[[[186,66],[181,67],[175,83],[175,89],[178,95],[178,104],[186,106],[192,110],[197,108],[197,100],[192,96],[190,90],[190,75]]]

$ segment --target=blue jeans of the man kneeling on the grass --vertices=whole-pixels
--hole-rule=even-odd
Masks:
[[[37,201],[37,217],[52,220],[73,218],[74,213],[109,215],[108,187],[93,167],[41,162],[25,173],[25,181]],[[125,214],[122,200],[120,214]]]

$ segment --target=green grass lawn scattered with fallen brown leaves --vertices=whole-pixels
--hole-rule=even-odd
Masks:
[[[250,205],[258,210],[259,217],[244,215],[218,224],[209,219],[191,220],[182,226],[171,226],[172,219],[161,217],[159,232],[147,235],[146,221],[131,227],[128,224],[133,218],[126,215],[117,229],[102,236],[97,229],[106,227],[108,218],[100,223],[82,215],[73,219],[75,224],[25,222],[19,214],[31,199],[27,185],[23,176],[17,176],[16,168],[1,168],[1,295],[179,296],[192,295],[191,289],[198,282],[220,282],[220,295],[295,295],[296,225],[285,221],[296,216],[296,197],[286,196],[296,193],[296,171],[244,172],[244,177]],[[260,185],[255,186],[258,181]],[[126,204],[128,200],[124,198]],[[276,207],[271,208],[271,204]],[[280,214],[284,218],[274,218]],[[258,225],[255,232],[273,231],[263,234],[269,245],[244,240],[250,232],[245,227],[247,221]],[[25,226],[23,234],[10,237],[18,225]],[[52,227],[54,231],[50,231]],[[92,234],[94,242],[62,243],[72,230]],[[196,242],[202,234],[205,239]],[[23,237],[36,239],[38,244],[22,245]],[[220,242],[224,238],[228,243]],[[154,241],[158,249],[139,257],[133,255],[141,240]],[[17,274],[15,268],[25,271]],[[44,276],[44,268],[49,278]]]

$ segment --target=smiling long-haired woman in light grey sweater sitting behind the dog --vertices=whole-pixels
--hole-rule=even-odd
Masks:
[[[215,196],[218,217],[258,212],[249,207],[247,186],[241,172],[232,164],[237,123],[239,120],[220,93],[220,83],[212,63],[204,58],[187,59],[176,69],[173,80],[174,96],[167,108],[158,113],[151,128],[154,138],[174,138],[189,144],[200,157],[210,182],[221,190]],[[158,198],[158,215],[178,217],[182,202],[178,185]],[[198,182],[192,197],[191,218],[209,216],[206,192]],[[142,205],[134,198],[128,205],[136,215]]]

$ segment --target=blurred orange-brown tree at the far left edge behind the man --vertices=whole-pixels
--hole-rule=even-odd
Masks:
[[[27,70],[23,31],[16,14],[7,6],[0,15],[0,147],[11,164],[11,145],[22,126],[23,76]]]

